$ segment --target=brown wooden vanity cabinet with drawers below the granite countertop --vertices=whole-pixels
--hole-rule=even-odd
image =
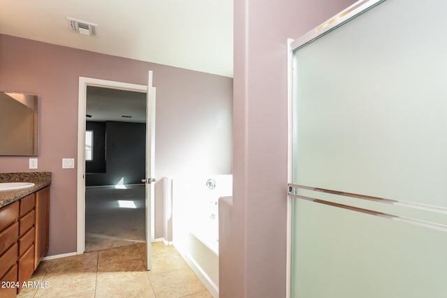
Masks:
[[[50,187],[0,208],[0,297],[15,297],[48,250]]]

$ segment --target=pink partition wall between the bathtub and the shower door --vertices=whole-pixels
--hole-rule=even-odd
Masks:
[[[219,202],[221,298],[286,297],[286,42],[353,2],[235,1],[233,200]]]

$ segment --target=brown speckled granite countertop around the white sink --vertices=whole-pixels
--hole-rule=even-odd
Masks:
[[[33,182],[34,186],[15,191],[0,191],[0,207],[51,184],[51,172],[0,173],[0,182]]]

